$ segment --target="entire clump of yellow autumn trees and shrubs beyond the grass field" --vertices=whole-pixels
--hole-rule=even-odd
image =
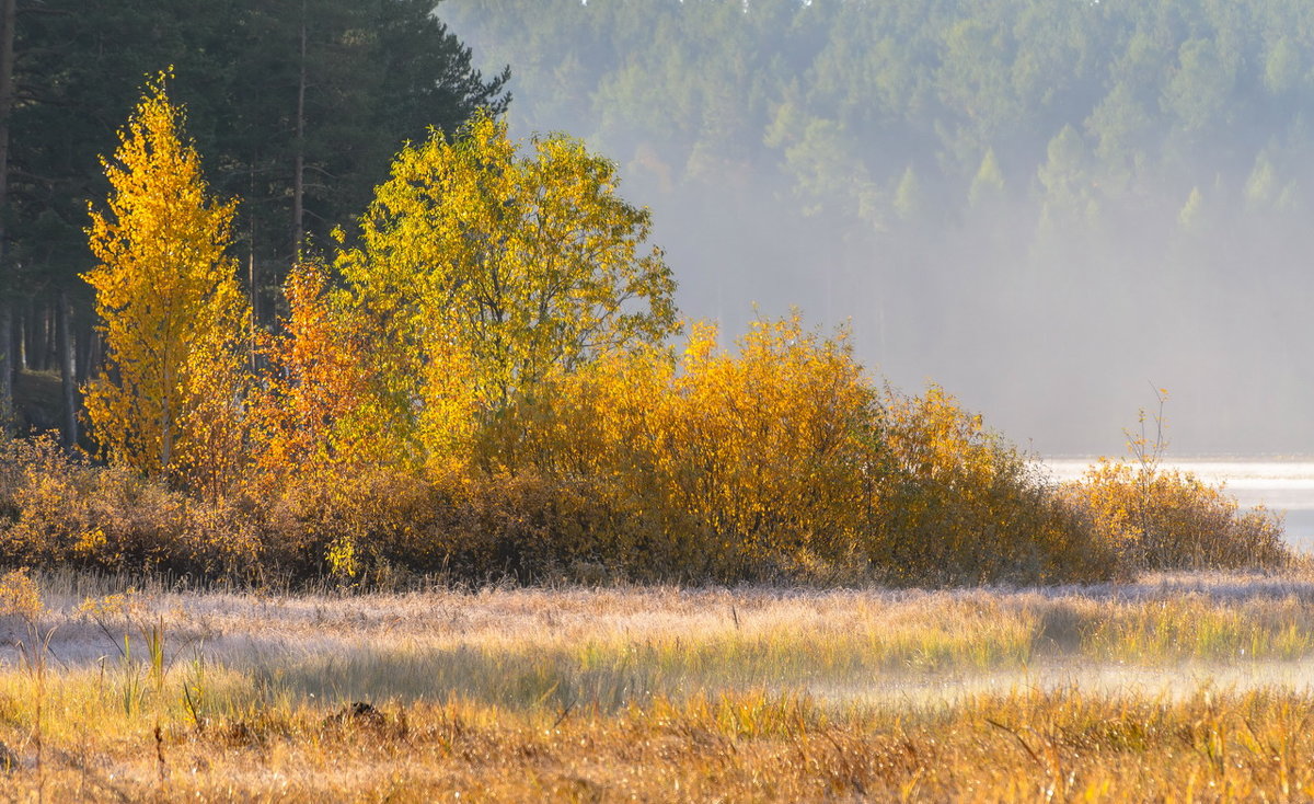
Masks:
[[[0,561],[197,579],[1063,582],[1269,566],[1281,523],[1105,464],[1055,486],[844,334],[682,336],[650,214],[566,134],[405,145],[258,327],[218,197],[147,87],[93,206],[97,456],[9,440]],[[1144,453],[1143,453],[1144,455]]]

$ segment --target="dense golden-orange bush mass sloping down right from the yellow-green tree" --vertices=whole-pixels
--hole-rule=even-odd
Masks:
[[[480,464],[553,501],[548,554],[640,577],[1101,577],[1108,554],[1016,449],[938,388],[880,394],[844,339],[695,326],[557,377],[484,434]]]

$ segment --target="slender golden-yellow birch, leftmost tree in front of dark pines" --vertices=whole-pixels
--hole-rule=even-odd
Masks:
[[[214,487],[239,453],[247,306],[226,255],[235,212],[210,196],[164,75],[104,160],[108,210],[91,210],[106,370],[87,389],[92,434],[113,462]]]

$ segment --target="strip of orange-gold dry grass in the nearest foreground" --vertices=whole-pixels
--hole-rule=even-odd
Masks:
[[[218,713],[204,728],[54,705],[45,763],[8,795],[294,801],[1159,800],[1314,792],[1307,692],[1208,686],[1179,698],[1075,687],[958,702],[833,704],[749,690],[654,698],[607,712],[507,709],[461,698],[380,700],[377,716],[307,702]],[[70,699],[57,699],[68,703]],[[25,724],[0,736],[21,742]],[[163,757],[163,772],[160,758]],[[1213,791],[1213,792],[1210,792]]]

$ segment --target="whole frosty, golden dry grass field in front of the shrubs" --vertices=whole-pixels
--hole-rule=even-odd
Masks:
[[[0,797],[1314,797],[1314,575],[127,591],[11,577]],[[29,590],[30,591],[30,590]]]

